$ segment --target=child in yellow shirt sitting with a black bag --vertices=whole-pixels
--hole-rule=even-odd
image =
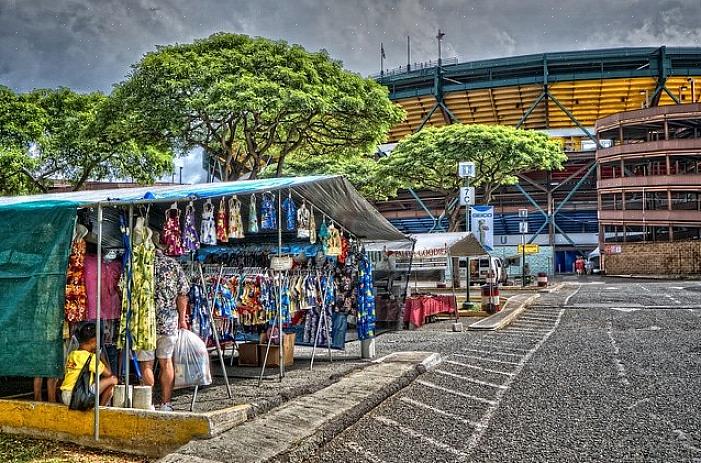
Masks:
[[[70,405],[73,395],[73,388],[80,378],[80,372],[85,366],[85,362],[90,362],[90,392],[95,394],[95,351],[97,350],[97,337],[95,334],[95,324],[85,323],[76,333],[80,345],[68,355],[66,359],[66,376],[61,384],[61,399],[66,405]],[[112,374],[109,367],[100,361],[98,368],[100,376],[100,405],[107,405],[112,399],[114,386],[118,379]]]

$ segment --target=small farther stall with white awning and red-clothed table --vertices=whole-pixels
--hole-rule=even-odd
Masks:
[[[398,272],[409,275],[407,284],[411,295],[404,301],[403,320],[412,327],[420,327],[438,314],[457,315],[457,297],[452,294],[436,294],[437,290],[419,289],[419,278],[426,278],[427,271],[440,270],[439,282],[452,279],[454,257],[483,256],[487,251],[470,233],[423,233],[410,235],[411,241],[378,242],[367,245],[368,252],[380,256],[392,256]],[[380,257],[382,259],[383,257]],[[446,277],[447,273],[447,277]],[[424,282],[425,284],[425,282]],[[440,283],[439,283],[440,284]],[[452,285],[451,285],[452,286]],[[407,291],[408,293],[410,291]]]

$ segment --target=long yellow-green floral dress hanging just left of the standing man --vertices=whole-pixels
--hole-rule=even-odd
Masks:
[[[141,223],[138,223],[141,222]],[[156,295],[154,287],[155,246],[151,242],[151,232],[143,225],[143,219],[134,227],[134,247],[132,250],[131,290],[131,349],[152,351],[156,348]],[[124,347],[127,332],[128,294],[122,283],[122,317],[117,347]]]

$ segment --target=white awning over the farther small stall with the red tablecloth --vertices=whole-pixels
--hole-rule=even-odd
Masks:
[[[415,243],[406,241],[368,243],[368,251],[391,251],[397,254],[413,254],[414,257],[455,256],[473,257],[489,254],[472,233],[419,233],[409,235]]]

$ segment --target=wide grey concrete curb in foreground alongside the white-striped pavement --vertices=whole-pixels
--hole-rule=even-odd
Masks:
[[[372,363],[367,370],[345,376],[333,386],[292,400],[213,439],[193,441],[160,461],[304,461],[440,362],[440,355],[432,352],[390,354]]]

